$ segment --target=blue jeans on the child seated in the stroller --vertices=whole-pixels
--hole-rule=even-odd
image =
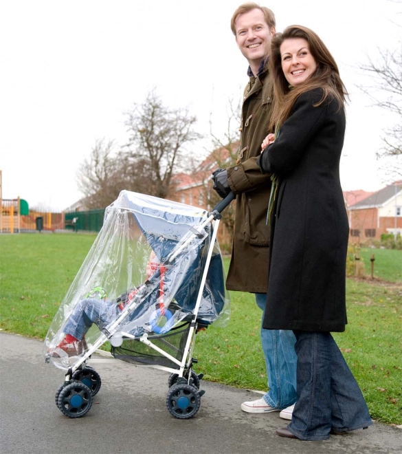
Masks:
[[[96,323],[102,329],[115,320],[118,314],[120,314],[120,309],[116,303],[104,299],[83,299],[69,316],[63,332],[81,340],[92,323]]]

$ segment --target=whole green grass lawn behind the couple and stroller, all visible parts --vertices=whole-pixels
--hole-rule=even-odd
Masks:
[[[95,237],[0,235],[0,328],[43,339]],[[379,251],[384,250],[375,250],[376,259]],[[393,263],[398,268],[398,258]],[[397,281],[399,271],[394,266],[384,264],[382,268]],[[349,325],[346,332],[334,337],[359,382],[372,418],[402,424],[402,285],[347,279],[347,304]],[[227,327],[212,325],[198,334],[196,370],[203,371],[208,380],[266,391],[259,335],[261,312],[254,295],[232,292],[231,306]]]

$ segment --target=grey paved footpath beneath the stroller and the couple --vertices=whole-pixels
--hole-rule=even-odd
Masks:
[[[249,414],[259,394],[201,380],[205,395],[190,420],[166,408],[168,374],[118,360],[96,365],[102,387],[89,413],[70,419],[54,403],[63,371],[45,364],[38,340],[0,333],[1,454],[382,454],[402,453],[402,430],[366,431],[302,442],[275,435],[279,413]]]

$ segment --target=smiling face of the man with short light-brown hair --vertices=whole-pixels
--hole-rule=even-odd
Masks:
[[[259,65],[271,53],[275,27],[269,28],[264,13],[254,9],[237,17],[236,43],[250,65]]]

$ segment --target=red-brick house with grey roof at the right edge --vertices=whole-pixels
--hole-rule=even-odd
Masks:
[[[359,191],[350,191],[359,192]],[[345,195],[345,193],[344,193]],[[353,199],[349,197],[349,202]],[[402,181],[394,182],[379,191],[347,204],[350,241],[364,243],[381,239],[383,233],[402,235]],[[346,198],[346,202],[348,199]]]

